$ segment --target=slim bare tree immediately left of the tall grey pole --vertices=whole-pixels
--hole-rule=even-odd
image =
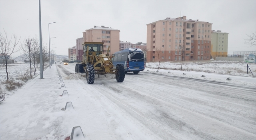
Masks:
[[[36,57],[39,54],[39,50],[40,50],[40,48],[39,48],[38,38],[35,37],[35,38],[33,38],[33,43],[32,43],[32,48],[31,48],[31,53],[30,53],[31,59],[32,59],[32,65],[34,66],[34,75],[36,75],[36,64],[37,64]]]

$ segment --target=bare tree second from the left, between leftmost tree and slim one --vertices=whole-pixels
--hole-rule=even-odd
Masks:
[[[32,62],[31,62],[31,48],[33,46],[32,38],[25,38],[23,44],[21,44],[22,54],[21,57],[30,62],[30,77],[32,77]]]

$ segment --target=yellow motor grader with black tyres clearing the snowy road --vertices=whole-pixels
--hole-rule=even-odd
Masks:
[[[117,64],[116,68],[112,63],[112,57],[108,54],[103,54],[102,42],[84,42],[82,55],[82,62],[76,64],[75,71],[86,73],[86,80],[88,84],[93,84],[95,75],[116,74],[116,81],[123,82],[125,76],[124,65]],[[106,75],[105,75],[106,76]]]

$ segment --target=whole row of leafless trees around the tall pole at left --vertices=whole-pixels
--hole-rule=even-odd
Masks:
[[[21,57],[30,62],[30,76],[32,77],[32,65],[34,66],[34,75],[36,75],[36,66],[40,66],[40,46],[39,40],[37,37],[34,38],[25,38],[24,42],[18,46],[16,35],[12,35],[9,39],[7,33],[4,31],[4,35],[0,33],[0,60],[3,61],[1,64],[5,66],[7,80],[8,78],[8,60],[11,60],[12,54],[19,52]],[[45,62],[49,61],[49,52],[46,49],[46,45],[42,46],[42,55],[43,55],[43,69]]]

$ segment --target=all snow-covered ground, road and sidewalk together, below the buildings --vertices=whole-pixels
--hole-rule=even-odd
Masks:
[[[30,80],[0,105],[0,139],[64,140],[74,126],[81,126],[86,140],[256,139],[255,77],[156,72],[157,64],[148,64],[139,74],[127,73],[122,83],[107,74],[96,76],[94,84],[84,74],[70,74],[75,64],[53,65],[44,79]],[[69,96],[59,96],[63,90]],[[74,108],[62,111],[66,102]]]

